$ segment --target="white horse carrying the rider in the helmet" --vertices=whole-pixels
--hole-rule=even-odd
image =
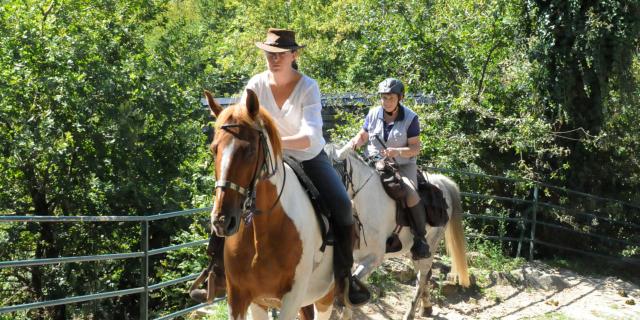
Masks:
[[[358,277],[366,278],[383,259],[406,254],[413,244],[413,235],[409,227],[403,227],[399,233],[402,250],[385,254],[387,238],[396,227],[396,202],[384,191],[379,176],[364,160],[348,146],[337,149],[334,145],[327,145],[325,151],[334,161],[346,161],[348,175],[347,189],[352,199],[355,213],[358,215],[364,231],[360,248],[354,251],[356,272]],[[431,257],[413,261],[418,271],[417,287],[409,310],[403,319],[413,319],[415,309],[422,302],[422,313],[431,314],[432,302],[429,293],[429,277],[433,257],[443,236],[447,252],[451,256],[452,265],[448,279],[456,281],[463,287],[470,285],[467,270],[465,239],[462,230],[462,205],[460,191],[455,182],[439,174],[426,174],[427,181],[437,185],[449,204],[447,213],[449,222],[445,227],[427,226],[427,242],[431,250]],[[351,310],[343,312],[343,319],[351,318]]]

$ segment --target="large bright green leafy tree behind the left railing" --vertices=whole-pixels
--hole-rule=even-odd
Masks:
[[[145,43],[165,9],[166,1],[143,0],[0,7],[0,212],[147,214],[191,207],[195,195],[209,192],[198,166],[206,151],[193,71],[181,73],[175,58],[183,52],[170,55],[162,45],[148,50]],[[167,243],[162,235],[184,224],[158,224],[151,245]],[[139,228],[94,230],[102,237],[62,224],[13,225],[2,241],[15,246],[3,245],[0,255],[16,260],[139,248]],[[13,288],[31,288],[12,303],[139,285],[134,272],[123,272],[139,270],[139,262],[95,269],[66,264],[2,272],[16,279]],[[96,277],[103,284],[87,287]],[[137,313],[136,299],[123,298],[109,316]],[[64,319],[72,310],[47,313]]]

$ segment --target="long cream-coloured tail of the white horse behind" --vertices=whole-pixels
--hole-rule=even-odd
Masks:
[[[451,274],[457,275],[461,286],[469,287],[469,267],[467,266],[467,249],[462,228],[462,201],[460,189],[451,179],[442,176],[442,182],[451,195],[451,217],[445,228],[444,241],[447,254],[451,257]]]

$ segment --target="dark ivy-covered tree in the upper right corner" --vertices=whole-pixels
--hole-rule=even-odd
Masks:
[[[607,177],[626,164],[601,163],[610,157],[607,123],[626,117],[619,113],[623,105],[638,102],[638,79],[631,70],[640,43],[640,2],[528,1],[523,15],[545,115],[556,143],[571,150],[567,185],[596,194],[617,192],[617,183]]]

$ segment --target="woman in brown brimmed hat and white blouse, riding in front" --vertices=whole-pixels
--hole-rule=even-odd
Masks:
[[[344,302],[351,306],[365,304],[371,295],[351,274],[354,223],[351,201],[323,150],[320,89],[314,79],[297,70],[298,49],[304,46],[296,43],[293,31],[274,28],[267,31],[267,40],[256,42],[256,46],[264,52],[267,70],[253,76],[246,89],[253,90],[261,106],[269,111],[280,132],[285,155],[301,163],[331,212],[335,236],[334,275]],[[244,97],[240,101],[243,100]],[[222,254],[214,256],[222,257]],[[222,269],[214,269],[216,279],[224,279],[218,277]]]

